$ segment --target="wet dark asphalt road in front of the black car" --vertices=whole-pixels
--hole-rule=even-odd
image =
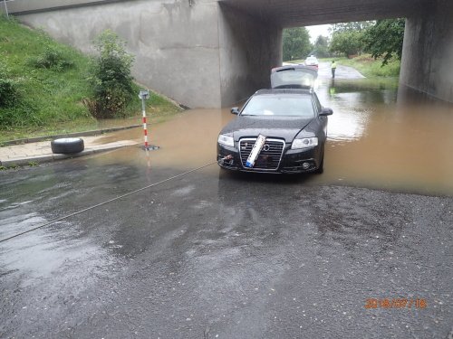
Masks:
[[[0,238],[181,172],[108,156],[0,173]],[[0,243],[0,337],[447,338],[452,225],[452,197],[212,165]]]

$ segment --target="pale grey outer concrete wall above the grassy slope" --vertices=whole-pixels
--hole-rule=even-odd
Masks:
[[[19,19],[90,53],[94,52],[92,40],[111,29],[135,55],[133,75],[140,83],[188,107],[221,106],[217,1],[71,5],[21,14]]]

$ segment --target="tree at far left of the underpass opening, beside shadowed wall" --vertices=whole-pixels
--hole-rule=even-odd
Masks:
[[[312,50],[310,33],[305,27],[288,28],[283,33],[284,61],[304,59]]]

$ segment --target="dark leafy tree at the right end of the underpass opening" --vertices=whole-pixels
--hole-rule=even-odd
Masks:
[[[378,20],[365,31],[363,36],[365,49],[374,59],[383,55],[382,66],[388,63],[393,54],[401,60],[404,26],[405,19]]]

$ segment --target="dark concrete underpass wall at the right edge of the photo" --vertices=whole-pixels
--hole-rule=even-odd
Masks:
[[[404,33],[400,86],[453,102],[453,2],[429,2],[408,17]]]

